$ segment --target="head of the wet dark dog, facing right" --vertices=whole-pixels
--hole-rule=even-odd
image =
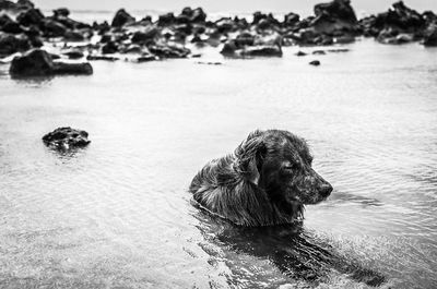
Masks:
[[[256,131],[235,155],[244,178],[285,210],[296,204],[317,204],[332,191],[331,184],[311,168],[312,156],[306,142],[287,131]]]

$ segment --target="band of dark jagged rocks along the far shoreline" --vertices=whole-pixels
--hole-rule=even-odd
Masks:
[[[87,24],[71,19],[67,8],[46,16],[29,0],[0,0],[0,61],[12,62],[12,76],[91,74],[84,61],[190,58],[199,57],[192,50],[202,47],[217,48],[225,57],[282,57],[284,46],[349,44],[357,37],[437,46],[437,15],[399,1],[387,12],[358,20],[350,0],[333,0],[315,5],[314,15],[305,19],[255,12],[250,22],[238,16],[210,21],[201,8],[185,8],[153,21],[120,9],[110,24]],[[55,53],[43,50],[50,44],[58,45]]]

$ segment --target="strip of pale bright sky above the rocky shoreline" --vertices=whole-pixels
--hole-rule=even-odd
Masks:
[[[382,12],[395,0],[352,0],[355,11]],[[181,8],[202,7],[208,12],[288,12],[296,11],[304,15],[312,14],[312,7],[323,0],[35,0],[42,9],[67,7],[71,10],[127,10],[179,11]],[[437,12],[437,0],[405,0],[406,5],[418,10]]]

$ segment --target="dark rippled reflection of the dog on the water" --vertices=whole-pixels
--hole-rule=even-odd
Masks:
[[[201,224],[198,229],[206,242],[220,248],[220,250],[233,251],[237,254],[250,255],[256,258],[268,260],[291,282],[306,284],[317,287],[320,284],[329,284],[333,272],[344,275],[344,278],[367,286],[380,286],[386,277],[373,269],[366,268],[359,260],[351,255],[342,255],[329,243],[329,241],[305,229],[303,222],[274,227],[238,227],[198,207],[194,215]],[[209,246],[202,246],[211,256],[217,253]],[[245,274],[246,269],[229,266],[232,274],[228,282],[240,286],[251,282],[252,276]],[[253,269],[253,267],[251,267]],[[244,284],[247,286],[260,286],[260,284]]]

